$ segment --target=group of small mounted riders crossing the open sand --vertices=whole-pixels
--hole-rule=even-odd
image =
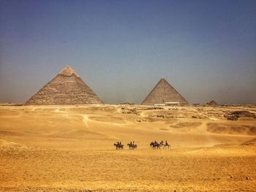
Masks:
[[[116,150],[123,150],[124,149],[124,145],[121,142],[116,142],[114,143],[114,146],[116,147]],[[135,150],[137,149],[138,145],[135,144],[135,142],[129,142],[127,143],[127,146],[129,146],[129,150]],[[157,142],[156,140],[154,140],[154,142],[150,143],[150,146],[153,149],[161,149],[161,147],[163,146],[164,148],[168,147],[168,149],[170,148],[170,144],[167,141],[161,141],[161,142]]]

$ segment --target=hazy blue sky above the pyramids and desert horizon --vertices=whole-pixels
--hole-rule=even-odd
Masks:
[[[161,77],[189,103],[256,103],[256,1],[0,0],[0,101],[67,64],[105,103],[140,104]]]

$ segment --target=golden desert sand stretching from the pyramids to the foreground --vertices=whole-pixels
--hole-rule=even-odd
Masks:
[[[256,191],[256,119],[227,120],[238,110],[256,113],[249,106],[0,106],[0,191]],[[153,150],[154,140],[171,147]]]

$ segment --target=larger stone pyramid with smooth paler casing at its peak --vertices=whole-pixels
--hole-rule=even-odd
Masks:
[[[65,66],[59,74],[25,103],[26,105],[102,104],[74,69]]]

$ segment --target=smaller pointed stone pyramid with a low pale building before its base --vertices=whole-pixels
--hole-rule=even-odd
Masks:
[[[172,85],[164,78],[159,80],[157,85],[148,94],[146,99],[142,102],[144,105],[165,104],[165,102],[179,102],[180,104],[188,104],[188,102],[181,96]]]

